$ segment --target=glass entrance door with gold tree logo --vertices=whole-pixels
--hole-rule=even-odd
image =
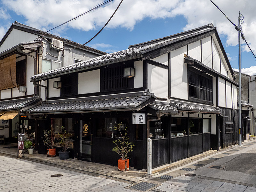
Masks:
[[[80,158],[92,160],[92,121],[80,120]]]

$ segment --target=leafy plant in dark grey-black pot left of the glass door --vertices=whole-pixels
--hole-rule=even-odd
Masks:
[[[60,159],[68,159],[69,151],[67,151],[67,149],[70,143],[69,137],[71,136],[71,133],[68,133],[65,127],[63,126],[61,127],[61,129],[63,133],[58,133],[58,136],[60,139],[59,144],[60,144],[60,147],[62,147],[62,151],[59,151],[59,157]]]

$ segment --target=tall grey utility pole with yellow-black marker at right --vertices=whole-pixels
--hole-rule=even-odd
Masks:
[[[238,29],[239,29],[239,37],[238,37],[238,60],[239,60],[239,71],[238,71],[238,145],[242,145],[242,106],[241,106],[241,12],[239,11],[238,17]]]

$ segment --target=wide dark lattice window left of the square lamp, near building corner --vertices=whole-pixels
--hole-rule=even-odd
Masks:
[[[114,91],[129,88],[129,79],[124,77],[125,67],[127,67],[127,65],[119,65],[101,69],[101,91]]]

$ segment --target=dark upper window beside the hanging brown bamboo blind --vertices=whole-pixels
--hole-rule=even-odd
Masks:
[[[26,60],[16,62],[16,83],[17,86],[26,86],[27,68]]]

